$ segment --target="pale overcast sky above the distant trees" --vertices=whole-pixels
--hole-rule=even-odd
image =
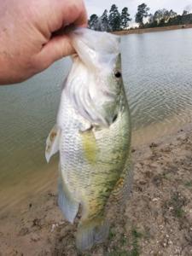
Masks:
[[[187,5],[192,6],[192,0],[84,0],[88,15],[96,14],[102,15],[104,9],[110,9],[111,5],[115,3],[119,10],[128,7],[131,18],[134,18],[137,12],[137,6],[141,3],[146,3],[150,8],[150,13],[154,14],[155,10],[166,8],[173,9],[177,14],[182,14],[183,9]]]

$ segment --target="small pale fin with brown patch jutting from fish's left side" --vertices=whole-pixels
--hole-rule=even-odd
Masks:
[[[48,163],[51,156],[59,150],[60,135],[61,129],[57,125],[54,125],[46,141],[45,158]]]

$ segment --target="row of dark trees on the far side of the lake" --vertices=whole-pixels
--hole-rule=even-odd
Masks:
[[[190,8],[187,7],[183,10],[183,15],[177,15],[172,9],[158,9],[154,14],[149,13],[149,8],[146,3],[142,3],[137,7],[137,14],[135,15],[135,21],[139,27],[155,27],[155,26],[172,26],[192,24],[192,14],[190,14]],[[129,28],[130,14],[128,8],[119,12],[116,4],[111,6],[111,9],[105,9],[102,16],[90,15],[89,27],[96,31],[120,31]]]

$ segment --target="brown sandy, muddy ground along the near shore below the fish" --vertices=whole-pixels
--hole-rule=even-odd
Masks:
[[[112,207],[108,241],[90,253],[76,251],[77,225],[64,220],[50,185],[1,215],[0,255],[191,255],[191,152],[192,124],[132,148],[131,197],[122,216]]]

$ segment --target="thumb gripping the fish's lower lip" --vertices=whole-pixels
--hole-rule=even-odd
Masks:
[[[67,35],[56,36],[43,46],[38,55],[36,55],[36,61],[38,67],[44,70],[53,62],[67,55],[73,55],[74,52],[71,40]]]

